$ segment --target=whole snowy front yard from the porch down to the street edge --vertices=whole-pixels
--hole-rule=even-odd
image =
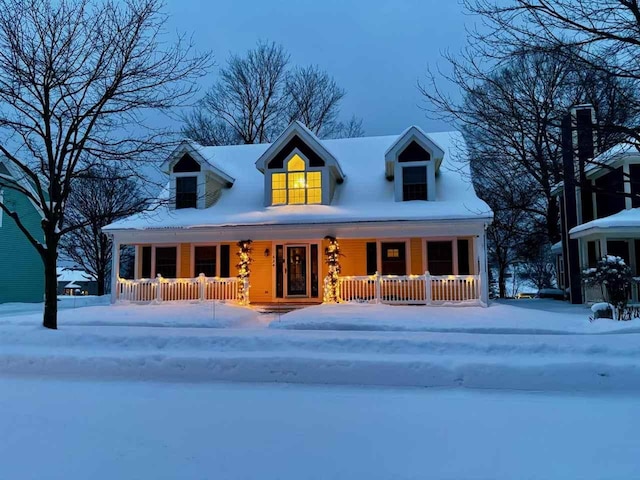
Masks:
[[[39,313],[0,317],[0,372],[640,391],[637,322],[590,323],[587,315],[553,301],[485,309],[319,306],[280,319],[222,303],[65,308],[56,332],[39,327]],[[265,328],[270,321],[289,328]]]

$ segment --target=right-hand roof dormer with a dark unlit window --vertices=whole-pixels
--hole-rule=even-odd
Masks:
[[[412,126],[401,133],[384,157],[396,202],[436,199],[436,174],[444,151],[420,128]]]

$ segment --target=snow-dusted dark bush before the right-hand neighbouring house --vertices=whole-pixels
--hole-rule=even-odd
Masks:
[[[631,285],[636,281],[631,267],[620,257],[605,255],[595,268],[582,272],[582,280],[586,285],[599,286],[607,301],[613,305],[614,318],[625,318],[625,309],[629,300]]]

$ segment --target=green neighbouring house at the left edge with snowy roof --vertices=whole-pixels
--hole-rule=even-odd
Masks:
[[[42,216],[35,204],[10,185],[32,191],[19,171],[0,157],[0,201],[19,214],[29,232],[43,237]],[[33,245],[13,218],[0,209],[0,303],[44,301],[44,265]]]

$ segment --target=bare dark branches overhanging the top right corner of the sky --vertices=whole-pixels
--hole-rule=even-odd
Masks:
[[[481,16],[482,28],[471,31],[483,57],[496,61],[511,52],[552,53],[590,71],[601,71],[638,89],[640,82],[640,5],[637,0],[464,0]],[[615,119],[601,128],[640,142],[640,100],[628,99],[634,121]]]

